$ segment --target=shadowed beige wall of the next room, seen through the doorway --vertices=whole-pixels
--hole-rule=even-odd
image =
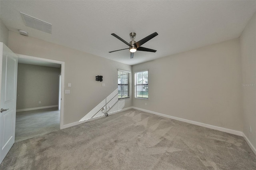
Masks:
[[[59,68],[18,63],[16,109],[58,105],[59,74]]]

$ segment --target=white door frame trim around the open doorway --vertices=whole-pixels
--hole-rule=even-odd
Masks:
[[[40,57],[33,57],[29,55],[23,55],[23,54],[16,54],[19,58],[24,58],[24,59],[30,59],[30,60],[36,60],[36,61],[45,61],[45,62],[50,62],[50,63],[56,63],[56,64],[61,64],[61,101],[60,101],[60,129],[63,129],[63,118],[64,118],[64,78],[65,78],[65,62],[64,61],[57,61],[57,60],[52,60],[52,59],[46,59],[46,58],[40,58]]]

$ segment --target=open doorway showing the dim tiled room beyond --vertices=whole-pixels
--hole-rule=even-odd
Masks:
[[[60,129],[60,64],[18,59],[15,142]]]

